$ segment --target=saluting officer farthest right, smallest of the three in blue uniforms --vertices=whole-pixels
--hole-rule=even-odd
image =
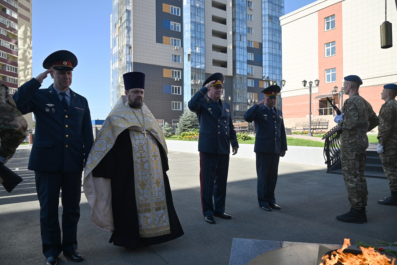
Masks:
[[[287,151],[287,136],[285,134],[283,113],[275,107],[278,85],[264,89],[263,100],[245,112],[247,122],[255,122],[256,174],[258,177],[257,193],[259,207],[265,211],[279,210],[276,204],[274,190],[276,188],[278,163],[280,157]]]

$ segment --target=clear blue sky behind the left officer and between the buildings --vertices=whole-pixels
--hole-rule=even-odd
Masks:
[[[284,0],[285,14],[314,0]],[[91,118],[110,112],[110,14],[112,0],[33,0],[33,77],[44,72],[43,60],[56,50],[78,59],[71,89],[87,98]],[[50,75],[42,87],[52,84]]]

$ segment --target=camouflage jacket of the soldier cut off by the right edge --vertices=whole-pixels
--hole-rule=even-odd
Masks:
[[[379,111],[378,140],[387,149],[397,149],[397,101],[388,100]]]

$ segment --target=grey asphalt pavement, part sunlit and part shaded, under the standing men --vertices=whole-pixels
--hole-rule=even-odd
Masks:
[[[26,170],[29,148],[19,148],[7,165],[18,168],[24,181],[7,193],[0,188],[0,264],[44,264],[41,253],[39,202],[33,172]],[[170,178],[175,209],[185,235],[164,244],[128,251],[109,244],[110,233],[90,222],[91,208],[82,194],[79,250],[84,264],[229,264],[233,238],[341,244],[343,238],[374,244],[374,239],[395,242],[397,207],[378,205],[389,195],[388,182],[368,178],[368,223],[339,222],[336,215],[349,210],[342,176],[326,174],[324,166],[280,162],[276,187],[279,211],[265,212],[256,200],[255,160],[231,157],[226,213],[231,220],[204,222],[200,205],[199,157],[170,151]],[[60,216],[62,207],[60,207]],[[59,263],[75,264],[64,256]]]

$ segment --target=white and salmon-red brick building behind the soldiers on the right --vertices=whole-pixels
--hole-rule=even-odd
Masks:
[[[313,81],[312,120],[330,120],[328,128],[336,124],[326,97],[342,106],[339,93],[347,75],[361,77],[360,95],[379,112],[384,103],[380,95],[383,85],[397,83],[397,68],[393,66],[397,62],[396,47],[382,49],[380,44],[384,21],[384,0],[318,0],[280,17],[282,74],[286,80],[281,97],[287,128],[308,120],[309,85],[303,87],[303,80]],[[393,36],[397,36],[394,1],[387,1],[387,21],[393,24]],[[318,87],[315,79],[320,80]],[[333,96],[335,86],[337,93]],[[344,95],[343,101],[348,97]]]

